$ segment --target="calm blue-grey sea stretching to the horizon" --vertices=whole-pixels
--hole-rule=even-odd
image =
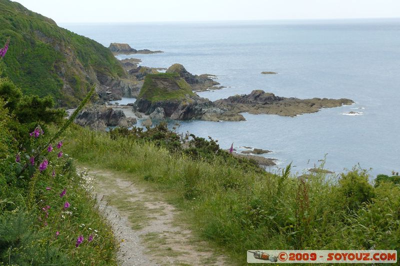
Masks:
[[[272,150],[268,156],[280,166],[292,161],[299,172],[325,154],[333,171],[357,163],[372,168],[372,175],[400,170],[400,19],[61,26],[104,46],[121,42],[165,51],[130,56],[142,65],[178,62],[194,74],[215,74],[227,88],[199,93],[211,100],[263,89],[356,102],[294,118],[244,114],[245,122],[181,122],[182,132],[211,136],[222,148],[234,142]],[[363,114],[343,115],[349,111]]]

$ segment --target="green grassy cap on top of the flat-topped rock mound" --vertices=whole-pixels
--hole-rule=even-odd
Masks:
[[[194,93],[190,85],[177,73],[157,73],[146,75],[138,98],[156,102],[182,100],[187,95],[194,96]]]

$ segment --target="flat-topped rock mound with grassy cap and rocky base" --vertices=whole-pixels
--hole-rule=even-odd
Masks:
[[[190,85],[176,73],[146,75],[133,110],[153,116],[163,112],[164,117],[175,120],[244,120],[242,115],[215,107],[210,100],[195,95]]]

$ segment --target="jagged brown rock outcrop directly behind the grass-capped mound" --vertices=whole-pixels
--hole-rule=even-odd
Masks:
[[[215,78],[214,75],[210,75],[210,74],[193,75],[193,74],[189,73],[181,64],[171,65],[166,70],[166,73],[177,73],[195,91],[204,91],[209,88],[213,88],[213,89],[220,88],[220,87],[216,87],[216,85],[219,85],[219,83],[212,79],[212,78]]]

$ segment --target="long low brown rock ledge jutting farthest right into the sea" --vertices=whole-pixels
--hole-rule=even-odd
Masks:
[[[339,107],[354,103],[350,99],[297,99],[275,96],[263,90],[253,90],[250,94],[230,96],[214,101],[215,106],[224,107],[233,113],[276,114],[296,116],[315,113],[321,108]]]

